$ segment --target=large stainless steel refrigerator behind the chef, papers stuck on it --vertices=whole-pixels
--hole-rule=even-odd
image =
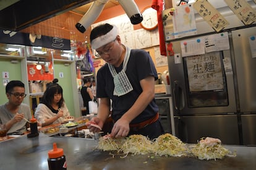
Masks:
[[[244,25],[224,1],[208,2],[229,21],[219,33],[195,12],[197,33],[173,38],[170,9],[163,11],[173,135],[187,143],[215,137],[256,145],[256,24]],[[195,54],[202,46],[205,53]]]

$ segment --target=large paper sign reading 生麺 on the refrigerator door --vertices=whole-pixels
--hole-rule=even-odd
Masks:
[[[220,52],[186,57],[190,91],[222,90]]]

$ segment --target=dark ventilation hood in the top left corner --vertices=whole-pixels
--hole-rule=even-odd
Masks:
[[[20,0],[2,7],[0,28],[17,32],[89,2],[92,0]]]

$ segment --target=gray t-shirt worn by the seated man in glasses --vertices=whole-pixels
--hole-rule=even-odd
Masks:
[[[28,120],[32,118],[31,112],[30,112],[30,107],[27,104],[24,104],[24,103],[20,104],[18,113],[23,113],[24,117]],[[0,123],[1,124],[6,124],[14,116],[15,116],[15,114],[13,114],[9,110],[7,110],[6,104],[2,104],[0,106]],[[11,129],[9,129],[9,131],[7,133],[11,134],[13,132],[25,132],[26,131],[26,123],[27,122],[24,119],[20,122],[15,123],[14,125],[12,125]]]

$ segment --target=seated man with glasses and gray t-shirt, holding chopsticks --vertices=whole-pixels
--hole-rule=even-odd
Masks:
[[[23,134],[29,123],[23,119],[32,118],[30,107],[22,103],[25,96],[25,87],[19,80],[12,80],[6,85],[8,102],[0,106],[0,124],[6,124],[7,134]]]

